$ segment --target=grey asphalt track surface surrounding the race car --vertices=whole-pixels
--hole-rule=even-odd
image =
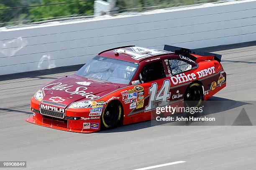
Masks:
[[[229,111],[226,114],[235,115],[232,124],[245,106],[240,101],[256,101],[256,42],[204,51],[223,54],[227,87],[211,100],[238,105],[212,115]],[[27,170],[134,170],[176,161],[185,162],[155,170],[256,168],[255,126],[151,126],[147,121],[79,134],[26,122],[31,96],[43,84],[73,74],[79,67],[0,76],[0,161],[27,161]],[[256,125],[252,106],[246,112]]]

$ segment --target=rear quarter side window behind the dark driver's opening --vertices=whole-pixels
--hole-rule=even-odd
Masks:
[[[180,60],[169,60],[171,69],[172,69],[172,75],[174,74],[179,74],[184,71],[188,71],[192,69],[192,66],[185,62],[185,61],[180,61]]]

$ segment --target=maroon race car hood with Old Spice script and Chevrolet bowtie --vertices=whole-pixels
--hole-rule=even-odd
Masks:
[[[105,94],[125,86],[127,85],[86,79],[74,74],[52,81],[42,87],[43,100],[68,105],[79,100],[97,100]]]

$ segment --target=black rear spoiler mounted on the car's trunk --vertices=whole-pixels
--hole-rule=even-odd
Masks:
[[[204,51],[198,51],[198,50],[169,46],[169,45],[164,45],[164,50],[172,51],[177,55],[186,56],[186,57],[190,58],[191,60],[197,61],[197,62],[202,61],[202,60],[210,60],[210,59],[214,59],[218,62],[221,61],[221,55],[215,54],[215,53],[208,53],[208,52],[204,52]],[[192,54],[198,55],[198,57],[193,56]],[[200,56],[204,56],[204,57],[201,58]]]

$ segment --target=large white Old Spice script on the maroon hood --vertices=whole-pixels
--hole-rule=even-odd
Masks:
[[[79,86],[76,89],[72,89],[74,87],[73,85],[68,86],[67,84],[62,83],[53,83],[48,84],[42,88],[42,90],[61,90],[69,93],[70,95],[78,94],[81,96],[84,96],[86,99],[99,99],[100,96],[95,96],[92,94],[92,92],[87,93],[85,90],[87,90],[87,87]]]

